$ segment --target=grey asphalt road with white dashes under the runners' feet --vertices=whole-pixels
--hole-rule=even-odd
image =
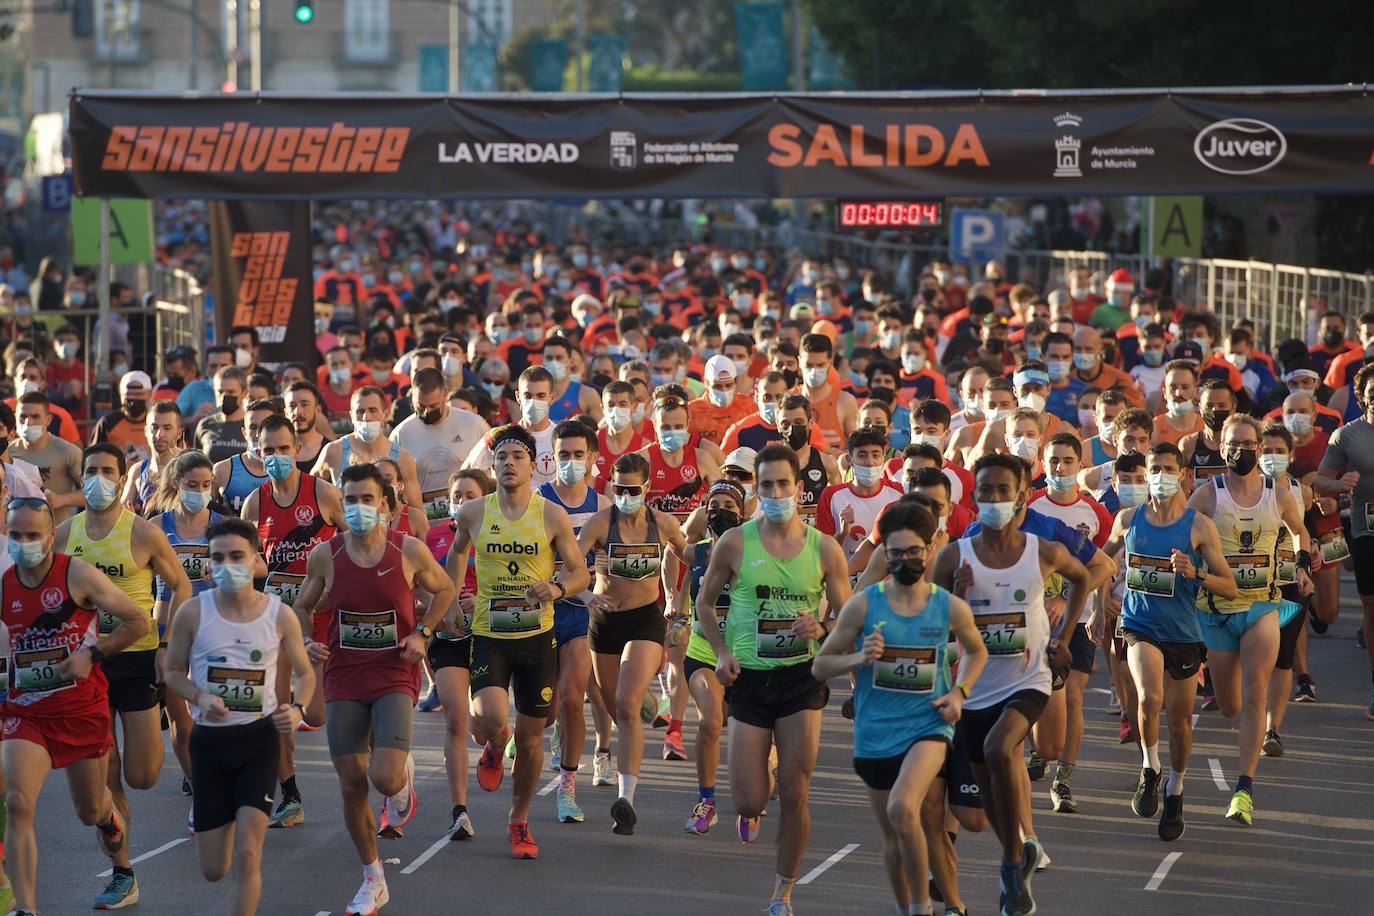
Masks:
[[[1344,588],[1353,604],[1353,588]],[[1261,758],[1254,827],[1223,818],[1235,780],[1235,728],[1219,713],[1200,713],[1187,776],[1187,834],[1176,843],[1156,836],[1154,821],[1131,813],[1139,772],[1134,748],[1117,743],[1117,721],[1103,713],[1105,670],[1092,676],[1087,735],[1074,773],[1077,814],[1054,814],[1048,781],[1035,784],[1036,828],[1052,865],[1033,882],[1041,913],[1371,913],[1374,861],[1374,722],[1364,721],[1369,673],[1355,645],[1359,611],[1311,643],[1319,703],[1292,706],[1283,729],[1287,753]],[[1099,659],[1099,667],[1101,665]],[[826,710],[823,747],[812,783],[812,834],[802,862],[798,913],[892,913],[881,839],[863,787],[849,765],[851,742],[840,717],[845,689]],[[691,713],[688,713],[691,714]],[[392,891],[386,913],[757,913],[772,886],[776,817],[765,818],[756,846],[734,831],[721,772],[720,825],[709,836],[683,832],[695,801],[691,762],[658,759],[662,732],[651,732],[642,775],[635,836],[610,831],[614,788],[592,788],[584,770],[578,799],[585,824],[554,817],[552,786],[536,799],[530,825],[539,861],[515,861],[506,843],[508,779],[486,794],[475,783],[469,810],[477,838],[437,842],[448,827],[442,776],[442,715],[416,714],[415,746],[420,809],[400,840],[382,840]],[[688,747],[692,735],[688,720]],[[588,731],[589,735],[589,731]],[[1164,747],[1161,747],[1164,751]],[[589,758],[588,758],[589,759]],[[342,913],[360,882],[359,864],[338,810],[338,792],[323,732],[301,735],[297,773],[306,823],[269,831],[264,856],[262,913]],[[587,768],[589,769],[589,766]],[[550,775],[551,777],[552,775]],[[89,906],[109,861],[89,828],[76,820],[60,775],[48,780],[38,816],[38,904],[43,913]],[[159,784],[132,792],[137,912],[221,913],[224,887],[199,873],[187,836],[188,799],[170,750]],[[775,803],[776,806],[776,803]],[[772,824],[769,823],[772,821]],[[848,850],[848,851],[846,851]],[[998,853],[991,835],[965,835],[960,884],[973,913],[996,912]],[[398,864],[397,861],[398,860]],[[407,873],[408,872],[408,873]],[[938,911],[937,911],[938,912]]]

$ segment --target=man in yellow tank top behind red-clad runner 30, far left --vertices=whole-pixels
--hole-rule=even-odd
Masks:
[[[70,553],[106,574],[137,607],[153,615],[153,577],[172,586],[172,602],[148,636],[136,640],[122,652],[104,659],[102,667],[110,681],[110,709],[124,724],[124,747],[118,746],[121,729],[114,729],[115,750],[110,754],[110,790],[125,821],[129,801],[122,780],[133,788],[153,788],[162,769],[162,733],[158,728],[158,681],[162,680],[162,656],[166,654],[166,626],[176,608],[191,599],[191,582],[162,529],[120,505],[120,493],[128,477],[122,449],[102,442],[88,448],[81,457],[81,490],[87,511],[58,526],[52,549]],[[115,629],[115,622],[100,615],[100,630]],[[117,869],[104,893],[93,905],[113,909],[137,902],[139,884],[129,868],[129,843],[113,858]]]

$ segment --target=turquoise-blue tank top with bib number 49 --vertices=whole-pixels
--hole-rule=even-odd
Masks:
[[[855,757],[905,754],[922,737],[954,737],[954,725],[930,705],[949,692],[949,592],[930,586],[915,617],[888,604],[886,582],[864,589],[868,614],[855,643],[882,628],[882,658],[855,672]]]

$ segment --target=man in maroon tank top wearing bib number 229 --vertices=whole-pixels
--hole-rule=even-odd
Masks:
[[[295,612],[319,608],[324,643],[311,658],[324,665],[326,736],[344,797],[344,821],[363,862],[363,886],[345,913],[375,913],[390,894],[376,836],[398,838],[415,816],[411,714],[420,659],[453,604],[453,585],[423,541],[390,530],[386,481],[375,464],[339,478],[346,530],[311,551]],[[416,622],[415,588],[430,592]],[[386,795],[381,834],[367,803],[368,781]]]

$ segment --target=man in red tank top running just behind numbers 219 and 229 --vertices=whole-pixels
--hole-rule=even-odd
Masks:
[[[311,551],[334,537],[334,530],[344,523],[339,492],[297,467],[300,450],[294,423],[280,415],[262,420],[258,427],[258,455],[271,479],[249,493],[240,511],[245,519],[257,525],[258,537],[262,538],[262,556],[268,569],[262,591],[293,607],[305,581],[305,560]],[[324,639],[324,630],[313,632],[309,619],[302,621],[301,628],[316,640]],[[315,672],[315,683],[320,683],[319,669]],[[276,695],[291,695],[289,662],[276,666]],[[315,691],[305,710],[306,724],[316,728],[324,721],[324,700],[320,696],[322,691]],[[282,781],[282,801],[272,809],[268,827],[295,827],[305,821],[305,809],[295,786],[294,735],[282,736],[278,779]]]

